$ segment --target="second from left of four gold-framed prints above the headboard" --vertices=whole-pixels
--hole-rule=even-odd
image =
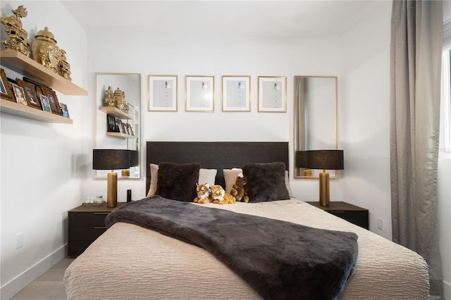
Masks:
[[[185,111],[214,111],[214,76],[185,77]]]

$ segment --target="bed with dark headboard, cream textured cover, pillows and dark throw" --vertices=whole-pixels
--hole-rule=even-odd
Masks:
[[[174,201],[173,199],[166,199],[166,197],[152,196],[156,178],[160,180],[157,183],[159,192],[171,192],[161,187],[164,185],[161,183],[163,182],[161,178],[165,178],[161,176],[165,174],[165,170],[170,170],[170,174],[175,173],[171,169],[174,165],[178,167],[178,165],[199,163],[201,170],[203,169],[204,171],[202,173],[205,176],[203,177],[204,181],[206,181],[206,178],[211,180],[212,173],[214,173],[214,183],[226,187],[226,192],[229,192],[227,189],[230,189],[232,184],[230,178],[235,177],[239,173],[245,172],[246,176],[251,176],[249,174],[252,174],[251,171],[255,170],[255,168],[261,171],[259,168],[266,170],[268,165],[271,168],[273,165],[277,165],[277,172],[280,175],[280,172],[282,172],[280,171],[280,165],[283,165],[285,168],[288,168],[289,165],[288,142],[147,142],[146,158],[146,187],[147,196],[149,197],[145,197],[140,201],[133,201],[128,208],[129,211],[121,212],[119,209],[116,209],[107,217],[109,229],[92,243],[83,254],[78,256],[66,270],[64,283],[68,299],[429,298],[428,265],[421,256],[362,227],[352,225],[345,220],[296,199],[290,192],[287,170],[283,170],[283,175],[285,175],[283,176],[283,184],[285,188],[280,187],[280,176],[277,177],[279,180],[277,189],[280,187],[280,189],[288,192],[288,196],[283,194],[283,199],[277,199],[277,197],[280,197],[280,194],[276,193],[276,196],[274,194],[269,196],[270,198],[276,197],[276,199],[271,198],[271,201],[263,199],[262,201],[250,203],[251,201],[249,200],[249,203],[237,202],[235,204],[219,205],[194,204],[192,202]],[[156,168],[157,165],[159,168]],[[171,168],[168,168],[167,165]],[[233,170],[234,168],[240,169]],[[189,173],[185,172],[185,169],[183,170],[183,174]],[[197,176],[199,176],[199,180],[200,173],[200,170],[198,170]],[[249,179],[251,177],[246,178]],[[186,188],[183,186],[178,187],[176,184],[177,182],[167,183],[174,190]],[[252,183],[250,185],[253,187]],[[190,199],[190,195],[187,194],[179,194],[179,196],[180,198],[186,196],[187,199]],[[253,194],[252,196],[255,195]],[[189,212],[178,214],[183,215],[183,218],[181,218],[183,220],[184,218],[190,219],[191,215],[202,215],[202,213],[205,215],[218,214],[221,215],[221,218],[225,215],[226,217],[224,218],[227,220],[232,215],[234,218],[233,222],[235,222],[235,217],[239,218],[239,222],[245,222],[243,224],[246,225],[243,227],[254,224],[259,226],[259,222],[268,222],[270,224],[269,227],[273,227],[276,224],[286,228],[286,225],[290,225],[290,227],[293,227],[292,230],[307,230],[313,232],[314,235],[322,235],[322,233],[318,234],[317,232],[323,232],[324,236],[338,235],[340,239],[349,239],[350,244],[345,249],[349,250],[347,252],[344,250],[338,251],[337,249],[340,248],[338,244],[335,245],[335,242],[329,244],[329,246],[321,246],[320,248],[328,251],[325,254],[325,256],[330,256],[327,257],[328,259],[332,259],[335,256],[341,259],[343,253],[351,254],[351,249],[358,251],[346,256],[349,259],[341,259],[341,261],[346,261],[349,268],[346,269],[348,273],[342,276],[345,281],[342,282],[342,288],[338,290],[339,292],[328,294],[318,290],[318,294],[315,294],[315,296],[302,294],[303,290],[311,285],[307,284],[309,280],[321,279],[319,287],[323,283],[323,290],[327,290],[328,283],[326,281],[329,280],[328,277],[332,277],[330,276],[332,273],[322,271],[323,274],[319,274],[321,272],[315,273],[313,269],[311,269],[312,271],[308,269],[303,273],[296,273],[296,275],[292,275],[295,273],[286,275],[284,271],[283,275],[281,275],[282,273],[276,275],[264,274],[261,279],[252,275],[250,276],[254,277],[254,280],[252,280],[246,275],[247,271],[243,275],[240,268],[236,270],[237,265],[240,265],[241,261],[233,265],[227,259],[223,259],[224,257],[233,256],[230,255],[230,248],[227,249],[226,247],[225,250],[221,250],[219,256],[216,253],[218,245],[214,243],[218,236],[223,236],[223,233],[214,235],[214,242],[211,242],[211,239],[204,241],[203,233],[202,241],[199,243],[198,240],[194,242],[192,240],[184,241],[178,236],[175,237],[175,231],[172,231],[171,228],[166,229],[166,231],[156,227],[147,229],[141,223],[137,225],[139,222],[128,222],[123,217],[125,213],[127,218],[129,218],[130,211],[133,210],[142,214],[141,209],[144,210],[145,206],[156,207],[157,205],[161,205],[161,208],[164,209],[159,210],[159,213],[154,213],[154,218],[163,218],[165,226],[167,226],[167,220],[164,213],[166,213],[166,209],[169,209],[168,207],[174,205],[176,209],[180,209],[182,212]],[[152,209],[155,209],[155,207],[152,207]],[[169,211],[169,213],[171,212]],[[132,215],[130,218],[135,218],[135,215]],[[136,220],[140,218],[136,217]],[[161,221],[160,219],[159,221]],[[216,227],[226,227],[216,223],[218,218],[215,217],[214,220],[213,225],[216,225]],[[157,221],[155,223],[158,223]],[[189,223],[190,220],[187,220],[187,222]],[[147,219],[144,223],[147,224]],[[204,226],[206,223],[202,220],[199,224]],[[190,224],[188,225],[190,226]],[[154,226],[154,223],[152,223],[152,226]],[[208,226],[210,226],[210,223],[208,223]],[[228,228],[231,227],[233,226],[228,226]],[[237,227],[233,228],[236,229]],[[176,234],[184,231],[189,232],[190,236],[193,235],[191,227],[190,230],[185,230],[185,227],[181,228],[181,230],[179,229]],[[217,228],[214,230],[217,230]],[[235,232],[233,234],[235,235]],[[236,234],[240,235],[239,232]],[[271,237],[272,234],[269,231],[266,232],[266,235],[279,241],[279,237]],[[255,236],[257,237],[257,233]],[[354,248],[352,248],[354,236],[356,238]],[[227,238],[234,239],[235,237],[232,235],[232,237],[229,236]],[[249,239],[249,235],[245,239]],[[258,239],[263,238],[259,237]],[[221,245],[223,240],[219,240],[216,243]],[[272,244],[271,246],[276,244],[278,249],[288,248],[285,246],[288,242],[271,242],[268,244]],[[240,243],[237,243],[237,245],[240,245]],[[224,252],[227,251],[229,251],[228,256],[225,256]],[[302,249],[296,249],[296,251],[288,249],[286,251],[289,251],[293,257],[299,257],[299,261],[301,261],[301,256],[304,262],[306,259],[309,259],[306,264],[309,268],[316,261],[316,257],[304,256],[304,252],[302,252],[304,250]],[[321,250],[316,248],[310,252],[314,254],[315,252],[321,252]],[[255,253],[253,252],[252,256]],[[302,255],[300,255],[301,253]],[[241,256],[240,252],[241,257],[245,256]],[[354,258],[354,261],[352,261],[352,258]],[[267,261],[271,264],[272,261],[279,261],[279,258],[271,258],[267,259]],[[250,264],[254,266],[259,265],[259,263],[252,262]],[[319,265],[321,265],[321,268],[325,268],[322,262]],[[330,268],[325,270],[330,270]],[[285,279],[280,280],[281,282],[277,286],[274,285],[274,289],[279,289],[271,293],[271,289],[273,289],[272,283],[277,281],[278,276],[280,278],[285,276],[283,278],[288,278],[287,282],[295,282],[293,288],[297,288],[296,293],[299,294],[290,295],[284,293],[285,282],[283,281]],[[266,277],[271,279],[264,282]],[[296,280],[299,284],[297,284]],[[314,284],[316,285],[317,282],[314,282]],[[292,286],[287,287],[287,289],[291,288]]]

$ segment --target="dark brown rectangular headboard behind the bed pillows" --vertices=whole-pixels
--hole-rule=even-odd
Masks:
[[[147,142],[146,194],[150,186],[150,163],[200,163],[216,169],[216,184],[225,187],[223,169],[245,163],[288,164],[288,142]]]

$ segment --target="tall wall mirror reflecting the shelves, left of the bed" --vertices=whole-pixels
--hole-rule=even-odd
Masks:
[[[130,168],[116,170],[118,179],[139,179],[141,87],[138,73],[96,73],[94,96],[94,149],[137,150]],[[94,170],[106,178],[109,170]]]

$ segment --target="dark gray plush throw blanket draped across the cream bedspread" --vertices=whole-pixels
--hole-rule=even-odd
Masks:
[[[125,204],[109,213],[105,222],[107,227],[132,223],[200,246],[264,299],[336,299],[357,261],[357,235],[352,232],[320,230],[160,196]]]

